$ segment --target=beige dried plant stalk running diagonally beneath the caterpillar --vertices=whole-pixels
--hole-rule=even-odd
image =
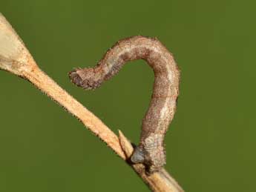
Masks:
[[[164,169],[147,175],[144,165],[132,165],[129,163],[128,159],[131,153],[133,153],[134,148],[131,146],[128,139],[126,139],[121,132],[119,132],[119,137],[116,136],[99,118],[94,116],[91,111],[76,101],[76,99],[70,96],[62,87],[59,87],[53,79],[50,79],[47,74],[40,70],[33,57],[24,46],[22,39],[19,38],[15,30],[13,30],[1,13],[0,69],[7,70],[23,79],[27,79],[39,88],[39,90],[46,93],[50,99],[53,99],[73,116],[76,116],[86,128],[102,139],[109,148],[114,150],[118,156],[131,165],[134,171],[137,172],[152,191],[183,191]]]

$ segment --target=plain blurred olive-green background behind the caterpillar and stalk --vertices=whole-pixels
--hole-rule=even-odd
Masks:
[[[99,90],[68,71],[96,64],[117,40],[157,36],[181,69],[167,165],[186,191],[256,191],[255,1],[0,1],[49,76],[116,133],[137,143],[154,76],[125,65]],[[73,116],[0,71],[0,191],[148,191]]]

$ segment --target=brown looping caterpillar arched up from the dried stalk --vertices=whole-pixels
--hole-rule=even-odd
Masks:
[[[95,89],[118,73],[123,64],[136,59],[144,59],[153,68],[154,91],[142,120],[140,144],[131,162],[143,163],[152,173],[165,165],[163,139],[174,117],[179,94],[180,71],[171,53],[157,39],[134,36],[117,42],[96,67],[70,71],[69,77],[79,87]]]

